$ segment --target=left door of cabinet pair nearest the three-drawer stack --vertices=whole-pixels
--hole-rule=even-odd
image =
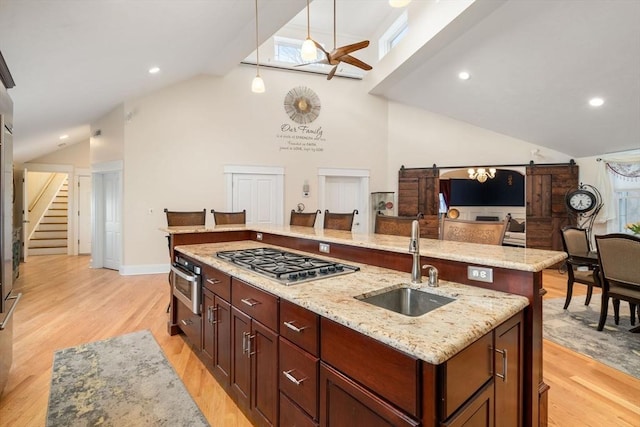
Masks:
[[[231,307],[231,334],[231,392],[238,406],[248,413],[251,408],[251,359],[247,346],[251,318],[235,307]]]

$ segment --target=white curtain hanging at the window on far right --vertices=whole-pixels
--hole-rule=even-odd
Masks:
[[[597,222],[616,219],[616,198],[611,179],[612,174],[617,174],[624,179],[640,180],[640,153],[612,154],[598,159],[596,187],[602,194],[604,206],[600,210]]]

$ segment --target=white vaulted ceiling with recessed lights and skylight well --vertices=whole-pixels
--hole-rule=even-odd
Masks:
[[[424,32],[421,13],[454,2],[464,11],[401,62],[372,64],[371,93],[572,157],[640,148],[639,1],[413,0],[409,34]],[[259,4],[261,41],[305,38],[304,0]],[[312,32],[331,33],[332,4],[311,3]],[[374,42],[401,11],[338,0],[337,13],[338,38]],[[255,50],[254,31],[250,0],[0,0],[16,160],[56,149],[63,133],[86,140],[88,124],[124,100],[225,75]],[[150,76],[154,65],[162,71]],[[602,107],[587,104],[594,96]]]

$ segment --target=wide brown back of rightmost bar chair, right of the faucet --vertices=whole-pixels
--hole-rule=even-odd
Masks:
[[[508,218],[504,221],[470,221],[445,217],[440,226],[440,240],[501,245],[508,222]]]

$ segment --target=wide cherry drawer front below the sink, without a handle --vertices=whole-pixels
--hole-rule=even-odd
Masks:
[[[420,416],[418,359],[324,317],[320,322],[323,362],[407,413]]]

